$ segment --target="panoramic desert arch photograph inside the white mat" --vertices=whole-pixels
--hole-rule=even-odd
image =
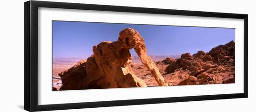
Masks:
[[[52,20],[52,90],[235,83],[235,28]]]

